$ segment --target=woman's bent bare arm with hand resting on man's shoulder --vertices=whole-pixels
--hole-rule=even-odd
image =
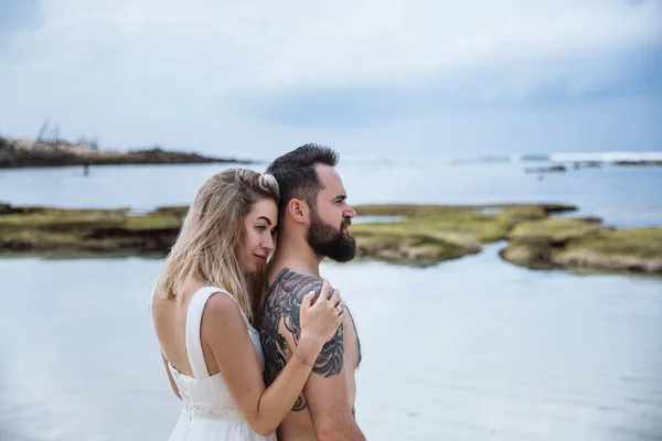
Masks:
[[[273,433],[292,408],[308,380],[311,365],[344,316],[339,315],[334,308],[340,301],[338,292],[331,299],[320,295],[310,306],[312,300],[313,295],[308,294],[301,306],[302,320],[307,315],[310,325],[302,327],[295,356],[268,388],[238,305],[226,295],[213,295],[204,309],[203,342],[214,354],[221,375],[244,418],[259,434]],[[344,310],[342,302],[340,305]]]

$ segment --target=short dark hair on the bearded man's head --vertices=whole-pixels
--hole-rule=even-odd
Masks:
[[[308,143],[276,158],[266,173],[274,175],[280,190],[279,217],[293,198],[305,200],[311,208],[316,196],[323,189],[314,170],[317,164],[335,166],[340,155],[330,147]]]

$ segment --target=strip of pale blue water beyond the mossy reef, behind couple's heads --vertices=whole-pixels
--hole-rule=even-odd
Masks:
[[[189,204],[212,174],[231,165],[118,165],[0,171],[0,202],[62,207],[130,207]],[[234,165],[232,165],[234,166]],[[583,169],[526,174],[519,163],[342,163],[349,201],[363,203],[574,204],[581,215],[610,225],[662,224],[662,166]],[[263,171],[265,165],[252,165]]]

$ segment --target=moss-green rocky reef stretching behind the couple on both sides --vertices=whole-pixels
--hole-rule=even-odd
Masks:
[[[0,255],[161,257],[174,243],[186,209],[132,213],[0,204]],[[662,275],[661,227],[617,230],[598,218],[554,216],[576,209],[572,205],[360,205],[355,209],[359,217],[351,230],[360,259],[429,266],[506,240],[500,256],[519,266]],[[359,222],[362,218],[369,222]]]

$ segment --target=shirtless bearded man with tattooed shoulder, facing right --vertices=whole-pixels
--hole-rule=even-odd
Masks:
[[[296,356],[301,299],[311,290],[319,295],[322,259],[345,262],[356,252],[348,229],[356,212],[348,205],[334,169],[338,159],[328,147],[306,144],[277,158],[267,169],[280,187],[278,246],[258,319],[267,384]],[[311,364],[312,374],[278,428],[278,439],[365,440],[354,419],[354,370],[361,362],[361,346],[351,314],[345,314],[317,361],[299,362]]]

